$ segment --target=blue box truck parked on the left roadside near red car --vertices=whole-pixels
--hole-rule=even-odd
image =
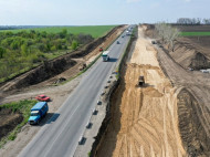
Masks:
[[[46,102],[39,102],[31,108],[31,116],[29,117],[29,123],[39,124],[40,121],[46,115],[49,106]]]

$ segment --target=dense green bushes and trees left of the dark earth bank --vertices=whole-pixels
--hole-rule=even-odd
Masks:
[[[75,50],[78,45],[93,41],[90,34],[72,34],[63,29],[59,33],[34,30],[0,33],[0,78],[32,67],[49,59],[57,51]]]

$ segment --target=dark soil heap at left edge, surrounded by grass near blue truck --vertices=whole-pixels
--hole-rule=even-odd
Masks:
[[[0,108],[0,140],[23,121],[22,114],[13,113],[9,108]]]

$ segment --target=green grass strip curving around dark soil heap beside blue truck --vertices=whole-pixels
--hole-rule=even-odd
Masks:
[[[30,109],[31,107],[36,103],[36,101],[20,101],[20,102],[13,102],[9,104],[3,104],[0,106],[0,109],[2,108],[11,108],[12,112],[20,112],[22,113],[23,121],[21,124],[17,125],[17,127],[10,132],[6,137],[3,137],[0,140],[0,148],[8,142],[8,140],[14,140],[17,137],[17,134],[21,130],[22,126],[24,126],[28,123],[28,119],[30,117]]]

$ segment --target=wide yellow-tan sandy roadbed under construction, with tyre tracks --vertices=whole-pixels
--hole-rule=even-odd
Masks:
[[[186,156],[178,129],[177,94],[157,61],[157,51],[138,28],[123,83],[112,101],[112,122],[98,146],[98,157]],[[146,85],[138,87],[138,77]]]

